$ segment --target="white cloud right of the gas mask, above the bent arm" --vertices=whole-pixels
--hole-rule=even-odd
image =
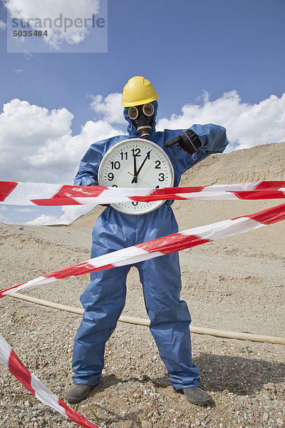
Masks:
[[[209,101],[209,94],[204,93],[202,106],[186,104],[180,115],[160,119],[157,131],[190,128],[194,123],[217,123],[227,128],[230,148],[280,143],[285,141],[285,93],[281,98],[271,95],[258,104],[242,103],[237,91],[224,93],[215,101]]]

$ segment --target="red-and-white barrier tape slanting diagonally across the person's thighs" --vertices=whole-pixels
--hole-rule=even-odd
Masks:
[[[223,220],[210,225],[200,226],[184,230],[183,232],[173,233],[155,240],[150,240],[122,250],[113,251],[99,257],[86,260],[83,263],[64,267],[34,280],[24,282],[18,285],[11,285],[0,290],[0,297],[10,295],[13,292],[24,290],[33,285],[43,285],[67,277],[84,275],[88,272],[97,272],[98,270],[111,269],[112,267],[133,265],[134,263],[159,257],[160,255],[175,253],[186,248],[195,247],[204,243],[212,242],[227,236],[237,235],[264,225],[279,222],[285,219],[285,203],[277,205],[259,213],[244,215],[231,220]]]

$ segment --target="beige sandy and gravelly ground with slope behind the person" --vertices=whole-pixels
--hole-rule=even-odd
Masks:
[[[211,156],[180,185],[285,180],[285,143]],[[284,201],[284,200],[283,200]],[[176,201],[180,230],[254,213],[283,202]],[[90,232],[103,208],[68,226],[0,224],[1,287],[89,258]],[[285,222],[180,253],[182,297],[193,325],[284,336]],[[88,277],[34,287],[26,293],[80,306]],[[11,297],[0,301],[1,334],[28,367],[64,397],[71,385],[72,343],[79,317]],[[128,277],[125,315],[147,317],[135,269]],[[197,408],[176,394],[146,327],[118,325],[108,342],[100,386],[76,409],[95,412],[107,427],[282,427],[285,352],[282,345],[192,335],[202,386],[215,405]],[[28,396],[0,367],[0,421],[9,427],[68,427]]]

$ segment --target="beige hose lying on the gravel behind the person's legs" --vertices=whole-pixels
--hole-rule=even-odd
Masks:
[[[36,303],[37,305],[42,305],[46,307],[52,307],[53,309],[65,310],[66,312],[71,312],[73,314],[82,315],[83,309],[79,307],[61,305],[60,303],[49,302],[48,300],[38,299],[36,297],[31,297],[28,295],[23,295],[19,292],[14,292],[10,295],[10,297],[15,297],[16,299],[26,300],[26,302]],[[149,326],[150,321],[144,320],[143,318],[135,318],[135,317],[126,317],[125,315],[121,315],[119,318],[120,322],[128,322],[129,324],[136,325],[145,325]],[[251,340],[252,342],[268,342],[268,343],[276,343],[278,345],[285,345],[285,337],[274,337],[274,336],[261,336],[261,335],[253,335],[252,333],[240,333],[240,332],[228,332],[226,330],[215,330],[212,328],[206,327],[190,327],[190,331],[192,333],[196,333],[197,335],[210,335],[216,337],[224,337],[226,339],[239,339],[239,340]]]

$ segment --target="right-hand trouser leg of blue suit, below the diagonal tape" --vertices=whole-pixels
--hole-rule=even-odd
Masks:
[[[180,300],[178,253],[138,263],[150,331],[175,389],[199,386],[199,368],[192,363],[190,312]]]

